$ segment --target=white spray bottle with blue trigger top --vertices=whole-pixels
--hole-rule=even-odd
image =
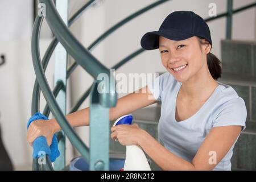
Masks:
[[[116,125],[131,125],[133,122],[133,115],[123,115],[115,121],[113,126]],[[123,167],[124,171],[151,171],[148,164],[146,155],[144,154],[141,147],[126,146],[126,159],[125,166]]]

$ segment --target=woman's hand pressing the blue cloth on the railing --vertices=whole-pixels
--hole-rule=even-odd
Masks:
[[[46,137],[47,144],[52,144],[52,137],[55,134],[55,123],[49,120],[38,119],[30,123],[27,131],[27,140],[30,146],[32,146],[34,140],[40,136]]]

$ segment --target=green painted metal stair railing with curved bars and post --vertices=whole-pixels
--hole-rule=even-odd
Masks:
[[[90,164],[90,170],[108,170],[109,169],[109,108],[115,106],[117,101],[117,94],[115,93],[114,82],[110,82],[109,90],[105,90],[105,93],[97,92],[97,85],[99,81],[97,80],[97,76],[100,73],[105,73],[110,78],[113,78],[110,75],[110,71],[108,68],[104,67],[95,57],[93,57],[89,51],[92,51],[93,48],[97,46],[102,40],[107,38],[110,34],[112,34],[119,27],[123,26],[123,24],[129,22],[135,17],[143,14],[144,12],[161,5],[164,2],[170,0],[161,0],[152,3],[151,5],[144,7],[143,9],[127,16],[127,18],[121,20],[113,27],[109,28],[104,34],[102,34],[99,38],[97,38],[89,47],[85,49],[76,38],[69,32],[68,26],[71,26],[73,22],[89,7],[93,5],[95,1],[89,1],[84,6],[81,7],[79,11],[77,11],[71,19],[68,20],[68,26],[65,26],[65,23],[57,13],[55,6],[53,5],[51,0],[39,0],[40,3],[44,3],[46,5],[46,20],[51,28],[55,38],[53,38],[51,44],[47,48],[46,53],[44,54],[43,60],[40,59],[39,54],[39,34],[40,27],[42,25],[43,17],[37,16],[35,19],[33,31],[32,31],[32,60],[36,73],[36,81],[34,84],[34,90],[32,95],[32,104],[31,104],[31,114],[38,112],[40,110],[39,101],[40,101],[40,90],[46,98],[47,105],[44,107],[43,114],[48,117],[50,111],[55,116],[57,122],[63,129],[64,133],[67,135],[73,146],[81,153],[83,158]],[[250,5],[243,6],[239,9],[233,10],[233,0],[227,0],[228,8],[226,13],[219,14],[218,16],[214,16],[208,19],[205,19],[206,22],[212,21],[214,19],[221,18],[223,16],[227,16],[226,23],[226,38],[231,39],[231,30],[232,30],[232,16],[235,13],[240,11],[249,9],[251,7],[256,6],[256,3],[251,3]],[[69,113],[73,113],[81,106],[82,102],[89,96],[90,94],[90,152],[89,148],[82,142],[82,140],[76,135],[73,131],[72,127],[69,125],[67,119],[65,119],[65,115],[63,111],[61,111],[60,106],[57,104],[55,97],[59,94],[60,90],[65,88],[65,84],[63,81],[59,80],[56,82],[56,85],[51,91],[49,88],[48,82],[46,80],[46,76],[44,75],[44,71],[47,69],[47,65],[51,55],[57,46],[58,43],[61,43],[67,52],[75,59],[75,63],[71,65],[71,67],[67,70],[67,77],[69,78],[71,73],[75,70],[77,65],[80,65],[85,69],[90,75],[94,77],[94,81],[92,86],[77,101],[76,105],[73,106]],[[119,61],[116,65],[114,65],[113,69],[118,69],[123,64],[127,63],[127,61],[133,59],[135,56],[142,53],[144,50],[138,49],[137,51],[131,53],[129,56],[125,57],[123,60]],[[102,114],[97,114],[98,112]],[[97,121],[97,122],[96,122]],[[105,136],[98,139],[99,134]],[[101,146],[102,150],[99,150]],[[101,152],[105,151],[105,152]],[[33,169],[34,170],[53,170],[51,162],[49,162],[49,156],[46,156],[46,164],[38,164],[37,160],[33,160]]]

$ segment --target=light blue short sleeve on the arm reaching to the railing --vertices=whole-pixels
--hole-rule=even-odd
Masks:
[[[156,77],[154,81],[147,82],[147,87],[154,96],[156,101],[161,101],[162,88],[163,88],[163,80],[164,77],[168,76],[168,72],[163,73],[159,77]]]

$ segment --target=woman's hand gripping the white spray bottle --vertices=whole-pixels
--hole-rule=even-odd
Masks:
[[[137,124],[113,126],[111,131],[111,138],[113,140],[118,139],[118,142],[123,146],[139,145],[139,140],[144,132]]]

